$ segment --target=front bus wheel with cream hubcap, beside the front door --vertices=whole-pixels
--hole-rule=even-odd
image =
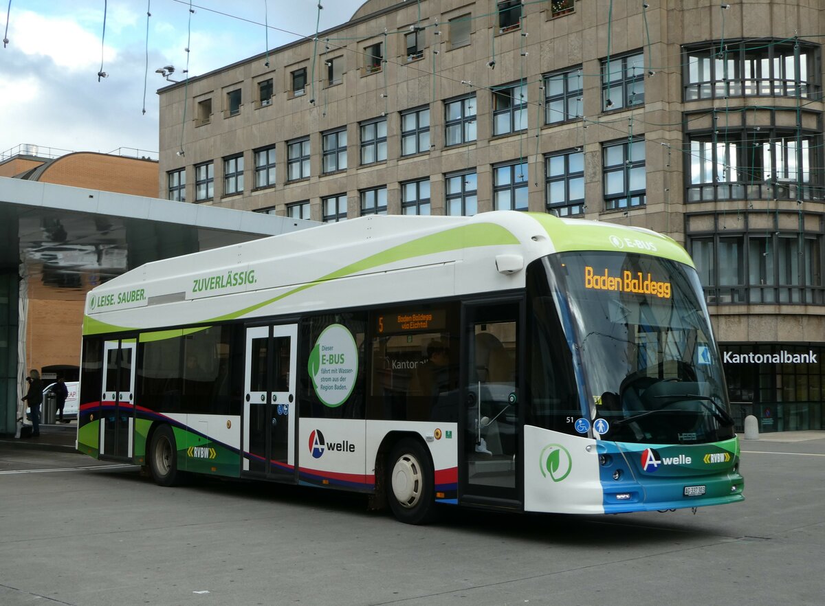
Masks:
[[[430,453],[414,439],[395,444],[387,465],[387,499],[398,520],[426,524],[435,515]]]

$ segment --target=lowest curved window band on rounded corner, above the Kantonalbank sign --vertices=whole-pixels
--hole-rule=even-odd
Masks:
[[[821,233],[760,229],[691,237],[690,250],[708,303],[822,305],[822,243]]]

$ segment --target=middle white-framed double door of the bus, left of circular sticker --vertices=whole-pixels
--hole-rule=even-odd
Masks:
[[[298,325],[247,327],[244,475],[295,482]]]

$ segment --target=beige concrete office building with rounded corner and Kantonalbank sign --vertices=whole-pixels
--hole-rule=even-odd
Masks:
[[[700,270],[737,415],[822,428],[823,26],[799,0],[369,0],[163,88],[160,196],[667,233]]]

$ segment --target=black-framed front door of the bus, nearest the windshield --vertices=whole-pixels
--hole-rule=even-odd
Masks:
[[[459,494],[521,507],[520,301],[464,306]]]

